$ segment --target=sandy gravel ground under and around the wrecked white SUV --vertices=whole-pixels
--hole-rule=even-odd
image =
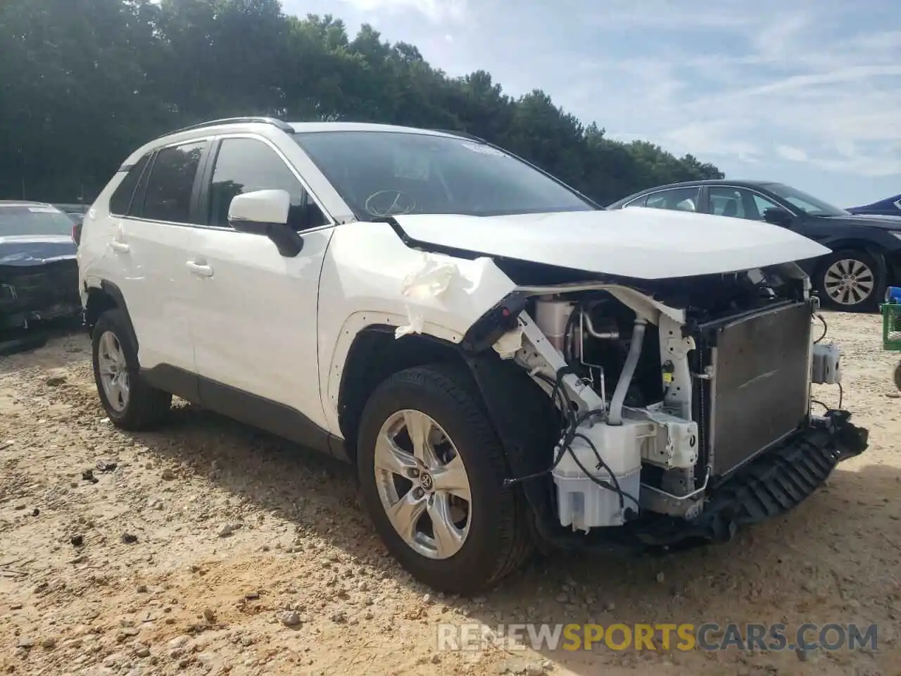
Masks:
[[[730,544],[536,559],[473,599],[433,594],[387,557],[349,467],[187,406],[123,434],[81,334],[4,357],[0,671],[899,674],[896,357],[878,316],[827,316],[871,445],[814,497]],[[589,621],[876,622],[878,650],[436,650],[440,622]]]

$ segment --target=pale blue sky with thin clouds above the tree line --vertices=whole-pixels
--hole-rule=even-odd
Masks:
[[[616,139],[836,206],[901,193],[901,8],[889,0],[283,0],[415,44],[451,76],[542,88]],[[640,9],[638,9],[640,8]]]

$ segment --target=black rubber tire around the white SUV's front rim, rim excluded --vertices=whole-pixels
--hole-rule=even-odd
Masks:
[[[504,450],[466,374],[441,365],[400,371],[369,397],[359,427],[357,465],[364,504],[388,551],[414,578],[432,589],[472,595],[494,586],[532,553],[522,498],[505,488]],[[375,447],[387,419],[405,409],[422,411],[451,438],[469,476],[469,534],[459,552],[430,559],[405,543],[378,497]]]

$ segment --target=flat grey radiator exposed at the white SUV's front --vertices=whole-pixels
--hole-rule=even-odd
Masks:
[[[714,477],[741,467],[805,423],[811,310],[805,303],[705,327],[713,379],[704,388],[704,444]]]

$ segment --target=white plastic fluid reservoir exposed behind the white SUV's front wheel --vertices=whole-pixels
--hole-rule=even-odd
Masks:
[[[578,428],[596,446],[598,454],[613,470],[619,488],[624,494],[639,499],[642,475],[642,443],[654,435],[653,425],[647,421],[623,420],[623,425],[594,425]],[[625,509],[638,510],[633,499],[620,498],[613,490],[598,486],[589,479],[573,455],[586,470],[598,480],[613,485],[610,474],[598,469],[597,456],[591,446],[579,437],[571,444],[572,454],[565,452],[552,476],[557,487],[557,504],[560,524],[588,532],[589,528],[601,528],[625,523]]]

